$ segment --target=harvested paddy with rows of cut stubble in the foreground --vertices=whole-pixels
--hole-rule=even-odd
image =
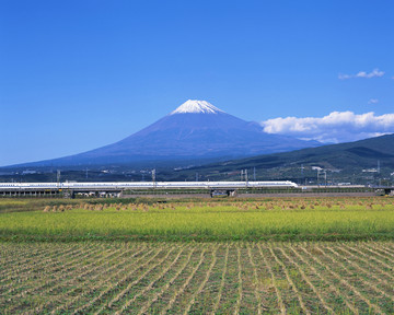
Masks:
[[[393,314],[393,242],[0,245],[1,314]]]

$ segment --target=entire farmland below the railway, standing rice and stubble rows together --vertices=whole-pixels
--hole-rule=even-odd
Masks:
[[[394,314],[394,199],[0,200],[0,314]]]

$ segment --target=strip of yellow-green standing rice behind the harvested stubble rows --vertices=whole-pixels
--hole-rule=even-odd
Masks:
[[[366,200],[371,205],[372,198]],[[290,201],[289,205],[301,201]],[[255,209],[253,202],[215,202],[188,207],[179,203],[174,209],[151,206],[149,209],[119,211],[107,208],[103,211],[73,209],[56,213],[0,213],[0,240],[394,240],[394,206],[391,203],[384,207],[374,203],[369,209],[355,203],[345,209],[334,203],[311,209],[308,203],[305,209],[296,207],[290,210],[270,203],[271,207],[263,206],[260,209]]]

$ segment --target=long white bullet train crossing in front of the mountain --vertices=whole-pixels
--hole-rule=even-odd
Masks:
[[[144,189],[144,188],[264,188],[298,187],[289,180],[279,182],[108,182],[108,183],[0,183],[0,190],[30,189]]]

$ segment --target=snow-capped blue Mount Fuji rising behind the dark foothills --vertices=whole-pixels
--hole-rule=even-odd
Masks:
[[[146,161],[223,160],[317,147],[316,141],[269,135],[206,101],[187,101],[147,128],[109,145],[23,166],[115,165]],[[19,165],[19,166],[22,166]]]

